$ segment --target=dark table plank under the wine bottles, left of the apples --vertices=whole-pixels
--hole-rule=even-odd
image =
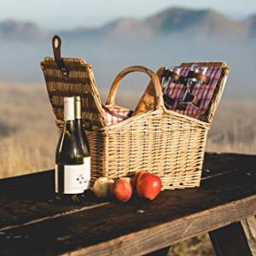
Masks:
[[[54,171],[0,180],[0,230],[109,204],[91,193],[79,204],[56,201]]]

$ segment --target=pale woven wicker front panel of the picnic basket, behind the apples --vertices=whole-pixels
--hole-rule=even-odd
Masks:
[[[108,175],[125,177],[147,170],[164,189],[199,186],[207,128],[154,112],[108,134]]]

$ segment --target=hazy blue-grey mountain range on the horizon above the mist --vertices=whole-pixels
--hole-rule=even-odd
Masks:
[[[89,28],[79,27],[69,31],[48,32],[32,22],[5,20],[0,23],[0,39],[34,40],[61,33],[76,38],[152,38],[158,34],[183,34],[189,37],[239,37],[256,38],[256,15],[244,20],[230,20],[215,10],[170,8],[144,20],[122,18],[108,24]]]

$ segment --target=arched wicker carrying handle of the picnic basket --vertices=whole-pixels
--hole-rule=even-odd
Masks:
[[[154,106],[155,109],[164,107],[164,100],[163,100],[163,93],[160,85],[160,80],[158,76],[149,68],[143,67],[143,66],[131,66],[126,67],[123,69],[113,80],[113,84],[111,86],[111,89],[109,91],[107,105],[108,106],[114,106],[114,100],[117,93],[117,90],[119,88],[119,84],[122,81],[122,79],[125,78],[125,76],[132,72],[142,72],[148,74],[150,77],[152,83],[154,84]]]

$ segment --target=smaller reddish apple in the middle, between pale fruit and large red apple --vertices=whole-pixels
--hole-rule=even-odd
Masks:
[[[111,193],[119,201],[128,201],[131,198],[131,178],[123,177],[117,179],[111,186]]]

